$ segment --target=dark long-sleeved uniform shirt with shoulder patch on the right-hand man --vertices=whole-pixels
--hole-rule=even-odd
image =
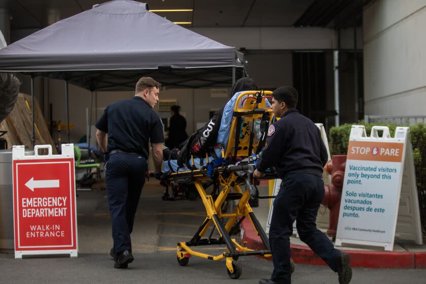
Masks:
[[[275,167],[280,179],[289,173],[322,176],[328,154],[321,132],[297,110],[288,111],[269,126],[266,143],[257,164],[259,171]]]

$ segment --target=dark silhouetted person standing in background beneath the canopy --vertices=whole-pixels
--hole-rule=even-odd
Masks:
[[[169,149],[177,148],[183,141],[188,138],[186,133],[186,119],[179,111],[181,107],[179,105],[172,105],[170,107],[170,125],[168,128],[169,137],[167,140],[167,147]]]

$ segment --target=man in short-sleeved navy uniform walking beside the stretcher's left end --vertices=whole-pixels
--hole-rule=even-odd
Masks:
[[[108,105],[95,125],[96,139],[107,161],[105,176],[114,239],[110,254],[115,268],[127,268],[133,261],[130,233],[145,183],[149,141],[155,176],[158,179],[161,175],[163,124],[153,111],[159,87],[152,78],[140,78],[135,96]]]

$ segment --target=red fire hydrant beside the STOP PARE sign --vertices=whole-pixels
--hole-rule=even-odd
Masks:
[[[334,155],[326,165],[326,170],[331,174],[331,185],[325,186],[326,194],[322,204],[330,209],[330,222],[327,234],[336,237],[337,222],[339,221],[340,198],[345,176],[346,155]]]

